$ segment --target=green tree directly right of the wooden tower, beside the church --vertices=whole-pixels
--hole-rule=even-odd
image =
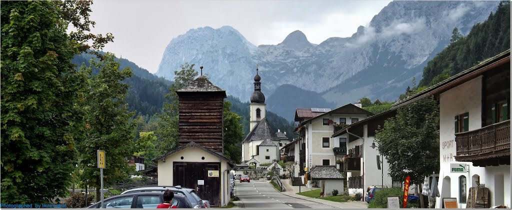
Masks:
[[[231,112],[231,102],[224,101],[222,107],[223,126],[224,126],[224,157],[227,157],[236,163],[240,163],[242,157],[242,147],[240,142],[244,137],[242,117]]]

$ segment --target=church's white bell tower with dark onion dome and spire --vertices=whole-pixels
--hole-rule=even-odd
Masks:
[[[250,109],[250,130],[265,118],[265,95],[261,92],[261,77],[258,74],[258,65],[256,65],[256,76],[254,76],[254,92],[251,95]]]

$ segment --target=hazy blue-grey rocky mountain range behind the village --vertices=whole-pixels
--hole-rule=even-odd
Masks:
[[[254,46],[229,26],[191,29],[170,41],[156,75],[173,80],[184,62],[202,65],[213,83],[247,101],[259,64],[268,110],[288,120],[295,108],[335,108],[361,97],[394,101],[450,44],[455,27],[466,35],[498,4],[394,1],[351,37],[331,37],[318,45],[301,31],[278,45]]]

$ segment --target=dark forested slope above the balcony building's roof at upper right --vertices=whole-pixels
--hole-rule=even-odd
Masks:
[[[477,23],[467,36],[453,31],[452,43],[428,62],[419,87],[430,87],[469,69],[486,58],[510,49],[510,2],[503,1],[483,23]]]

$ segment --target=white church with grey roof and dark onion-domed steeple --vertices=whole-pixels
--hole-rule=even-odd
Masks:
[[[254,92],[251,95],[250,111],[250,130],[249,134],[242,141],[242,163],[255,165],[257,167],[262,163],[272,163],[279,161],[280,149],[290,143],[286,133],[271,127],[265,117],[265,95],[261,92],[261,77],[256,68],[254,76]]]

